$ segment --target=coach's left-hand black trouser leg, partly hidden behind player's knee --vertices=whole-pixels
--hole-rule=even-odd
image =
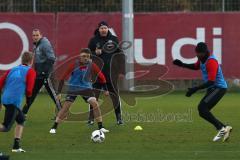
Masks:
[[[101,93],[101,89],[102,89],[102,85],[100,83],[94,83],[93,84],[93,91],[95,94],[95,97],[98,101],[98,98],[100,96]],[[88,125],[93,125],[94,124],[94,114],[93,114],[93,107],[89,104],[89,117],[88,117]]]

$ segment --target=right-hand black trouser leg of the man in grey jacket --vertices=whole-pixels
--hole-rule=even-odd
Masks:
[[[57,98],[56,92],[53,89],[53,87],[51,86],[51,83],[49,83],[48,79],[44,79],[44,86],[48,92],[48,94],[50,95],[51,99],[54,101],[54,103],[56,104],[56,109],[57,111],[60,111],[61,109],[61,102],[60,100]]]

